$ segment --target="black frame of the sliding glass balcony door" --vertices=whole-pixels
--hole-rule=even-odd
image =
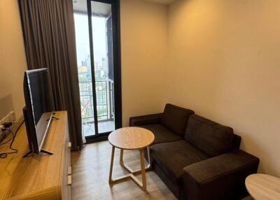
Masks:
[[[120,59],[120,0],[87,0],[88,29],[90,35],[90,64],[92,69],[92,97],[94,105],[94,131],[92,136],[86,136],[86,143],[106,140],[111,131],[99,134],[97,118],[97,99],[95,87],[94,49],[92,38],[92,8],[91,1],[111,4],[112,31],[113,31],[113,77],[114,77],[114,104],[115,104],[115,129],[123,127],[122,120],[122,86],[121,86],[121,59]]]

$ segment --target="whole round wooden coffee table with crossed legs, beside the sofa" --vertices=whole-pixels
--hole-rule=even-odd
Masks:
[[[139,185],[142,190],[146,190],[146,170],[150,169],[150,145],[155,140],[153,133],[147,129],[139,127],[126,127],[122,129],[117,129],[109,135],[109,143],[112,145],[112,155],[111,155],[111,165],[109,174],[109,184],[117,183],[120,180],[126,178],[132,178],[137,185]],[[115,155],[115,148],[120,149],[120,165],[123,166],[129,174],[122,176],[120,178],[112,179],[113,172],[113,159]],[[144,160],[144,150],[148,150],[148,166],[145,168]],[[132,171],[127,164],[123,162],[123,150],[139,150],[141,159],[141,169],[137,171]],[[142,173],[142,183],[134,175],[141,172]]]

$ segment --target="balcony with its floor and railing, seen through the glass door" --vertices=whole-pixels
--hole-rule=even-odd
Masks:
[[[92,136],[95,134],[92,82],[79,81],[79,87],[83,134],[84,136]],[[115,129],[113,80],[107,78],[107,80],[96,81],[95,88],[99,133],[113,131]]]

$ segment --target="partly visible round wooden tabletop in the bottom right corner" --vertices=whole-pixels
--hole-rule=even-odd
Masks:
[[[256,173],[246,178],[245,185],[253,199],[280,199],[280,178]]]

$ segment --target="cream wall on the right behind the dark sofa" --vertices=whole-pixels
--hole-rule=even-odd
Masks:
[[[229,125],[280,176],[280,1],[169,6],[167,101]]]

